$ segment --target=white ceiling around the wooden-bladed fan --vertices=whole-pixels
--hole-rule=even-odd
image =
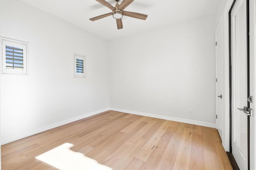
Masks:
[[[89,18],[112,12],[96,0],[22,0],[40,10],[68,21],[107,40],[158,29],[166,25],[214,14],[220,0],[134,0],[125,11],[147,14],[138,20],[123,16],[123,29],[117,29],[112,16],[97,21]],[[112,6],[114,0],[106,0]],[[123,0],[120,0],[119,4]]]

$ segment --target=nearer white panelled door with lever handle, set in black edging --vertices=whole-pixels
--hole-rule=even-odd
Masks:
[[[231,11],[232,154],[241,170],[248,169],[248,56],[246,0]],[[243,111],[244,110],[244,111]]]

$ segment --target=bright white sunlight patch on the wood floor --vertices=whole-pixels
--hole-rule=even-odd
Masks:
[[[82,153],[70,150],[73,146],[70,143],[64,143],[36,156],[36,159],[60,170],[112,170],[112,168],[99,164],[96,160],[88,158]]]

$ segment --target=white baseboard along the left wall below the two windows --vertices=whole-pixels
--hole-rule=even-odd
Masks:
[[[29,136],[32,136],[32,135],[36,135],[38,133],[41,133],[41,132],[44,132],[44,131],[47,131],[47,130],[50,130],[50,129],[53,129],[55,127],[59,127],[59,126],[62,126],[62,125],[66,125],[68,123],[72,123],[74,121],[78,121],[80,119],[84,119],[86,117],[90,117],[90,116],[93,116],[93,115],[96,115],[96,114],[99,114],[99,113],[102,113],[104,111],[108,111],[110,110],[110,108],[105,108],[105,109],[101,109],[101,110],[98,110],[98,111],[94,111],[94,112],[91,112],[91,113],[87,113],[87,114],[84,114],[84,115],[80,115],[78,117],[74,117],[74,118],[71,118],[71,119],[68,119],[68,120],[64,120],[64,121],[60,121],[58,123],[54,123],[54,124],[51,124],[51,125],[48,125],[48,126],[45,126],[45,127],[41,127],[39,129],[36,129],[34,131],[30,131],[30,132],[27,132],[27,133],[23,133],[21,135],[17,135],[17,136],[14,136],[14,137],[11,137],[11,138],[8,138],[8,139],[1,139],[0,143],[1,145],[5,145],[7,143],[11,143],[11,142],[14,142],[14,141],[17,141],[17,140],[20,140],[20,139],[23,139],[25,137],[29,137]]]

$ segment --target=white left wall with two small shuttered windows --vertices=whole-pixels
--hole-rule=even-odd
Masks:
[[[30,48],[29,75],[0,78],[1,144],[109,107],[107,41],[18,0],[1,0],[0,36]],[[73,53],[86,78],[73,78]]]

